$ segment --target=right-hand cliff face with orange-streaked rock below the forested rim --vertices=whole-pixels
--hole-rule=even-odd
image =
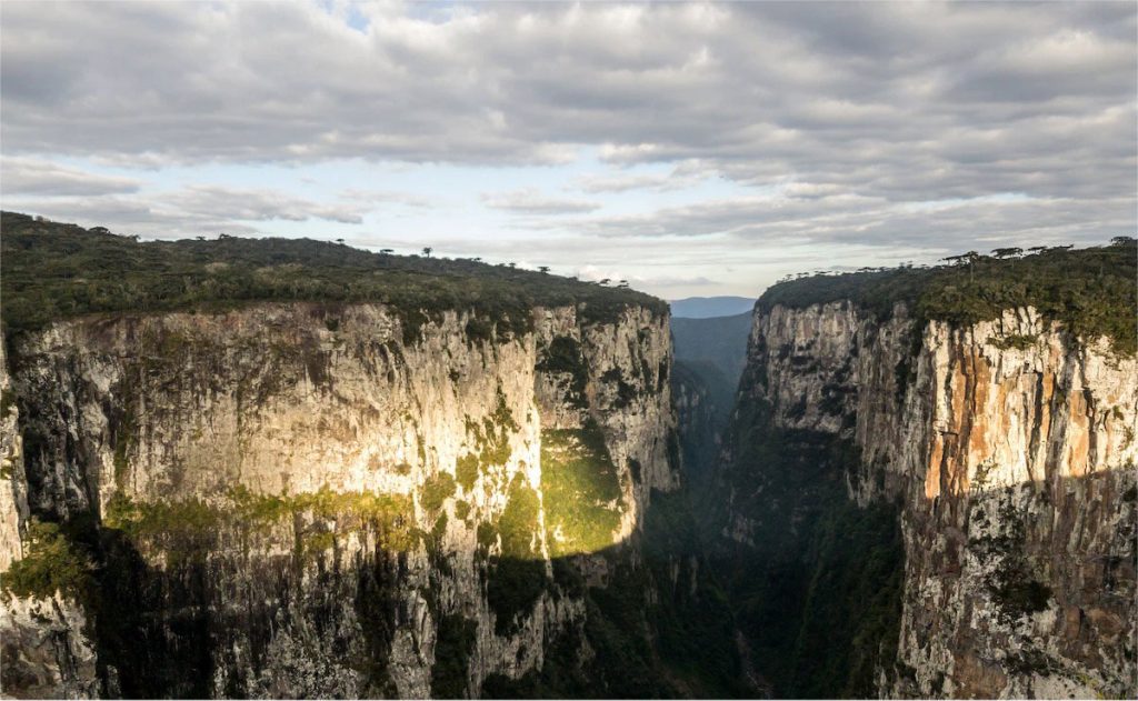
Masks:
[[[1032,308],[953,328],[904,305],[775,306],[756,312],[734,422],[715,522],[742,551],[772,519],[817,536],[811,519],[843,509],[798,495],[780,511],[795,477],[754,467],[775,439],[841,447],[817,480],[899,520],[900,616],[869,638],[871,692],[1138,695],[1133,357]]]

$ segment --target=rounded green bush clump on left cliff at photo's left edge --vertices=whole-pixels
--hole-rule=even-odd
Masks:
[[[0,576],[0,591],[22,597],[50,599],[59,592],[81,599],[91,584],[91,560],[59,529],[32,518],[24,534],[24,558]]]

